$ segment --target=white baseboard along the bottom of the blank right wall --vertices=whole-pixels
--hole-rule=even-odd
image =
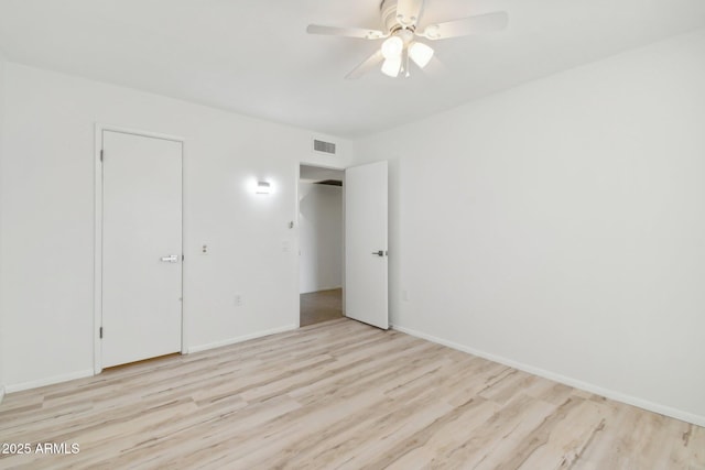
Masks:
[[[499,362],[500,364],[519,369],[521,371],[529,372],[530,374],[533,374],[533,375],[539,375],[544,379],[552,380],[554,382],[560,382],[562,384],[573,386],[575,389],[595,393],[597,395],[605,396],[607,398],[615,400],[617,402],[626,403],[628,405],[637,406],[639,408],[647,409],[649,412],[659,413],[661,415],[670,416],[675,419],[681,419],[686,423],[692,423],[694,425],[705,427],[705,416],[684,412],[682,409],[673,408],[666,405],[661,405],[659,403],[649,402],[647,400],[639,398],[637,396],[627,395],[616,390],[604,389],[601,386],[598,386],[588,382],[583,382],[574,378],[565,376],[555,372],[546,371],[544,369],[535,368],[533,365],[529,365],[523,362],[518,362],[511,359],[502,358],[501,356],[496,356],[489,352],[480,351],[454,341],[445,340],[443,338],[437,338],[435,336],[426,335],[424,332],[416,331],[411,328],[405,328],[399,325],[390,325],[390,328],[406,335],[414,336],[416,338],[422,338],[431,342],[435,342],[438,345],[447,346],[448,348],[457,349],[458,351],[467,352],[473,356],[478,356],[480,358],[485,358],[494,362]]]

